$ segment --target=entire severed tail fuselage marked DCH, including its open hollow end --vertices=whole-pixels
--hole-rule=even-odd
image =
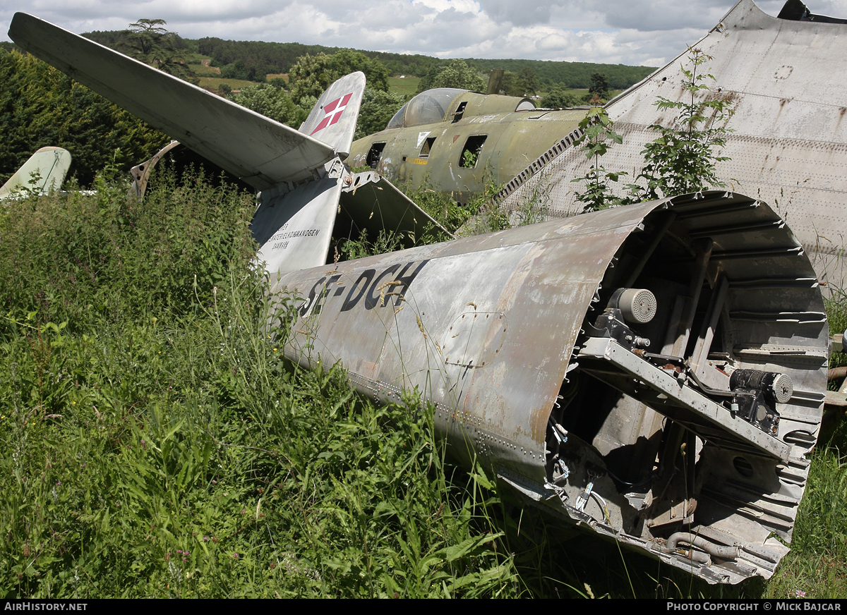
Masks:
[[[655,316],[612,317],[622,288]],[[274,290],[303,297],[291,360],[340,361],[378,402],[417,389],[458,459],[563,525],[710,582],[769,577],[788,552],[769,536],[790,540],[805,489],[828,326],[811,264],[757,200],[601,211]]]

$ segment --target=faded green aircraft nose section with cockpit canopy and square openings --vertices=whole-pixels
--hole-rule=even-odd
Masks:
[[[588,107],[537,109],[519,96],[428,90],[401,107],[385,130],[354,142],[347,162],[403,186],[429,182],[461,202],[488,179],[503,184],[557,156],[579,138],[586,113]]]

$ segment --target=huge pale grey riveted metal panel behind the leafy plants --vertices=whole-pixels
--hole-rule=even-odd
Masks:
[[[786,220],[810,255],[816,272],[844,288],[847,268],[847,82],[833,79],[843,72],[847,24],[778,19],[764,14],[753,0],[740,0],[692,47],[711,56],[700,69],[709,96],[722,96],[734,110],[717,174],[731,189],[758,195]],[[663,96],[673,101],[689,96],[682,85],[681,53],[662,69],[606,105],[623,144],[603,157],[607,169],[638,175],[640,152],[656,139],[652,124],[669,125],[674,110],[659,111]],[[568,148],[536,170],[507,206],[540,189],[549,189],[551,214],[569,216],[581,210],[574,200],[591,164],[583,152]],[[623,184],[624,182],[622,182]],[[623,195],[623,188],[620,189]]]

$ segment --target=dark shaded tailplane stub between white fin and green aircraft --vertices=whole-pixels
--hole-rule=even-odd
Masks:
[[[385,229],[400,236],[403,247],[411,247],[427,228],[450,234],[394,184],[373,171],[352,175],[351,183],[342,189],[340,205],[336,234],[353,239],[364,229]]]

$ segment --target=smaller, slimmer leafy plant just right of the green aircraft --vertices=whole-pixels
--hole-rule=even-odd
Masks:
[[[585,183],[584,192],[576,193],[576,200],[585,204],[584,211],[599,211],[613,205],[624,204],[620,197],[612,194],[609,183],[617,182],[620,176],[627,173],[606,171],[606,167],[600,164],[600,156],[606,154],[611,145],[610,141],[623,142],[623,137],[612,130],[612,125],[613,122],[603,107],[591,107],[588,114],[579,122],[579,129],[583,134],[574,145],[581,146],[581,151],[585,152],[589,160],[594,158],[588,173],[581,178],[571,180]]]

